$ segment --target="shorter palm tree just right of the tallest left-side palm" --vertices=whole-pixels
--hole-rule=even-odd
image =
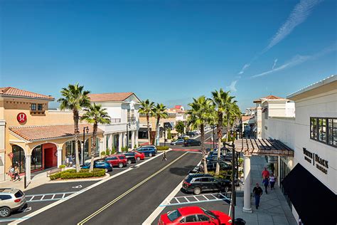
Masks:
[[[96,152],[96,138],[97,138],[97,126],[98,124],[109,124],[110,117],[106,111],[102,108],[102,105],[96,105],[95,103],[85,109],[85,114],[82,115],[81,120],[85,120],[93,124],[92,129],[92,143],[91,143],[91,162],[89,172],[94,169],[94,157]]]

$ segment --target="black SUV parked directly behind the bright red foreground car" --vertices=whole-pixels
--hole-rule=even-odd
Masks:
[[[188,174],[183,180],[183,190],[200,194],[201,192],[228,192],[231,184],[228,179],[216,179],[210,174]]]

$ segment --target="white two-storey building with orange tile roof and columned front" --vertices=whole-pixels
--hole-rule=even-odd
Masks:
[[[140,100],[134,93],[104,93],[90,94],[92,103],[101,104],[107,108],[111,117],[109,125],[99,125],[104,130],[104,141],[102,151],[122,150],[127,146],[132,148],[138,145]],[[128,132],[128,136],[127,136]]]

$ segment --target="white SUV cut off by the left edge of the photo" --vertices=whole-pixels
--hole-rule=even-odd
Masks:
[[[11,213],[27,206],[25,197],[19,189],[0,188],[0,217],[10,216]]]

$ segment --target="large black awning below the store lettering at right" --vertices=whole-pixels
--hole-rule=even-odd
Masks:
[[[296,164],[282,184],[304,224],[337,224],[337,195],[301,164]]]

